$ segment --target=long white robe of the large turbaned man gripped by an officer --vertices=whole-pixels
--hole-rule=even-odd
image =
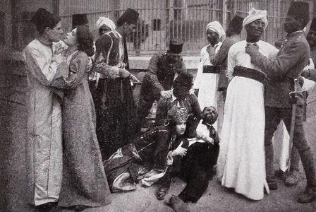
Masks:
[[[251,64],[245,45],[243,40],[229,49],[229,77],[235,66],[260,70]],[[277,49],[267,42],[260,40],[257,45],[266,57],[277,54]],[[234,188],[249,199],[263,198],[267,186],[264,136],[264,85],[251,78],[234,76],[227,89],[218,160],[224,187]]]

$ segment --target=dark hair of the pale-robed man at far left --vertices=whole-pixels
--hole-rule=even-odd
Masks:
[[[47,27],[53,29],[61,21],[61,18],[49,13],[44,8],[39,8],[31,21],[36,26],[39,35],[41,35]]]

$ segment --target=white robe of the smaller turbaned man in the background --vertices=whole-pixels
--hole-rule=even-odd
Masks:
[[[203,110],[204,107],[209,106],[217,108],[219,73],[203,73],[203,66],[212,66],[207,49],[215,48],[214,52],[216,54],[220,47],[221,42],[214,45],[214,47],[207,45],[201,50],[201,61],[197,68],[197,74],[193,85],[194,89],[199,89],[197,100],[199,100],[201,110]],[[217,122],[215,122],[213,126],[217,129]]]

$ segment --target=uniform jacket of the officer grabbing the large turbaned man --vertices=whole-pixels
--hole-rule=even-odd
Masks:
[[[265,85],[265,106],[291,108],[288,93],[294,90],[294,78],[299,78],[310,59],[310,46],[303,31],[290,33],[277,57],[267,59],[259,52],[251,57],[251,62],[267,73]],[[298,105],[303,105],[302,95]]]

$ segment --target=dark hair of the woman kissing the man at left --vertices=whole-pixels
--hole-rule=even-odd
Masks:
[[[93,35],[90,33],[89,28],[85,25],[80,25],[77,27],[77,42],[78,50],[85,52],[88,57],[95,54],[95,49],[93,47]]]

